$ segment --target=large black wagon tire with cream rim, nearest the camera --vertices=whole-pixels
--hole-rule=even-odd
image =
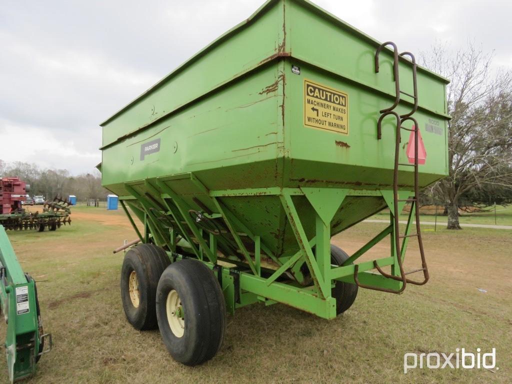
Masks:
[[[196,366],[217,354],[224,340],[226,303],[208,267],[193,259],[168,266],[156,302],[163,343],[176,361]]]

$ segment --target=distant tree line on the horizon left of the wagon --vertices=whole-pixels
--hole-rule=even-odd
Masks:
[[[98,171],[72,176],[67,169],[42,169],[37,164],[0,160],[0,177],[18,177],[30,184],[30,196],[42,195],[46,199],[56,196],[67,199],[69,195],[74,195],[78,201],[105,200],[110,193],[101,186]]]

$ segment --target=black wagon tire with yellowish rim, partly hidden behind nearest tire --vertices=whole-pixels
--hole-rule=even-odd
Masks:
[[[124,255],[121,300],[128,322],[138,330],[158,327],[155,297],[158,280],[170,260],[162,248],[139,244]]]

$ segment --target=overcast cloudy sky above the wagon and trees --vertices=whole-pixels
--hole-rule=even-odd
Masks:
[[[512,2],[313,0],[380,41],[428,51],[468,40],[512,67]],[[99,123],[240,23],[263,0],[3,2],[0,159],[91,172]],[[398,23],[396,20],[400,20]]]

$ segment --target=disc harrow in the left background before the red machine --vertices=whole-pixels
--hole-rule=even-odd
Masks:
[[[55,197],[45,202],[42,212],[30,212],[27,209],[17,210],[9,215],[0,215],[0,225],[7,230],[37,229],[39,232],[56,230],[62,225],[71,225],[71,204]]]

